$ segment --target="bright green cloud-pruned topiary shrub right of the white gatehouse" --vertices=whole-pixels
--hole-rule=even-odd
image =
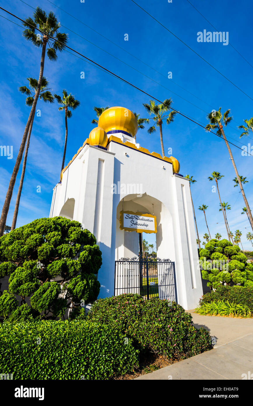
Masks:
[[[214,289],[225,283],[253,286],[253,264],[247,263],[247,257],[232,242],[210,240],[199,256],[202,277],[209,281],[208,286]]]

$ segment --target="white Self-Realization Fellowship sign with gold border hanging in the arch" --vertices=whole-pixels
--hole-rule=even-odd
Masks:
[[[120,212],[120,230],[157,233],[157,218],[152,214]]]

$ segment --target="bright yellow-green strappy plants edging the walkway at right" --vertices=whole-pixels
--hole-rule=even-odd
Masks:
[[[201,307],[195,310],[196,313],[202,315],[220,315],[233,317],[251,317],[251,310],[246,304],[236,304],[228,300],[217,300],[210,303],[203,303]]]

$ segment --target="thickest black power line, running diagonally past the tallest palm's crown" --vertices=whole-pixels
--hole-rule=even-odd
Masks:
[[[71,51],[75,52],[76,54],[82,56],[83,58],[89,60],[89,61],[90,61],[91,63],[93,63],[94,65],[100,67],[101,69],[103,69],[104,71],[110,73],[111,75],[113,75],[114,77],[118,78],[119,80],[122,80],[122,82],[124,82],[124,83],[126,83],[126,84],[129,84],[129,86],[132,86],[133,88],[135,88],[135,89],[139,90],[140,92],[146,94],[148,97],[151,97],[151,99],[156,100],[157,102],[163,104],[163,106],[170,108],[170,110],[175,111],[176,113],[180,114],[182,117],[185,117],[185,118],[188,119],[189,121],[192,121],[193,123],[199,125],[200,127],[204,128],[204,130],[206,130],[206,127],[204,127],[204,125],[201,125],[201,124],[197,123],[197,121],[191,119],[189,116],[186,116],[185,114],[183,114],[183,113],[181,113],[180,111],[178,111],[178,110],[172,108],[171,106],[168,106],[167,104],[164,104],[161,100],[157,99],[156,97],[150,95],[149,93],[147,93],[147,92],[145,92],[144,90],[140,89],[139,87],[135,86],[134,84],[132,84],[132,83],[129,82],[128,80],[126,80],[126,79],[124,79],[124,78],[118,76],[116,73],[114,73],[114,72],[110,71],[109,69],[103,67],[102,65],[100,65],[100,64],[97,63],[97,62],[95,62],[94,60],[88,58],[88,56],[85,56],[85,55],[81,54],[80,52],[74,50],[73,48],[69,47],[68,45],[63,44],[63,43],[62,43],[61,41],[59,41],[58,39],[52,37],[51,35],[49,35],[49,34],[46,33],[46,32],[43,32],[43,31],[40,30],[39,28],[37,28],[37,27],[35,27],[35,26],[32,26],[32,24],[27,23],[25,20],[21,19],[20,17],[17,17],[17,15],[11,13],[10,11],[7,11],[7,10],[4,9],[3,7],[0,7],[0,9],[3,10],[3,11],[5,11],[6,13],[12,15],[13,17],[19,19],[19,20],[22,21],[23,23],[30,25],[30,27],[32,27],[32,28],[38,30],[38,31],[41,32],[43,35],[47,35],[47,37],[49,37],[50,39],[53,39],[54,41],[57,40],[58,43],[60,43],[61,45],[64,46],[64,48],[68,48],[69,50],[71,50]],[[221,138],[221,136],[219,136],[218,134],[216,134],[215,132],[213,132],[213,131],[211,131],[211,130],[208,130],[208,132],[210,132],[210,133],[216,135],[217,137]],[[227,142],[230,143],[231,145],[234,145],[234,147],[236,147],[236,148],[238,148],[238,149],[241,150],[241,148],[238,147],[238,145],[235,145],[234,143],[231,143],[231,142],[228,141],[228,140],[227,140]],[[251,154],[250,154],[250,155],[251,155]],[[253,156],[253,155],[251,155],[251,156]]]

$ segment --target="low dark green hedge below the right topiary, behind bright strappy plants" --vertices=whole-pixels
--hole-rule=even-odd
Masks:
[[[243,304],[253,312],[253,287],[219,286],[216,291],[208,292],[199,300],[200,306],[217,300],[228,300],[235,304]]]

